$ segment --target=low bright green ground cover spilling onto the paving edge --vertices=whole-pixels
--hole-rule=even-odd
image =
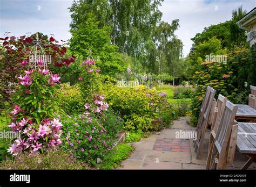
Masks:
[[[101,169],[116,169],[123,160],[129,157],[134,148],[126,143],[119,143],[113,150],[107,155]]]

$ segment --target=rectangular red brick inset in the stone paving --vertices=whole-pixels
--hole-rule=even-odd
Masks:
[[[157,139],[153,150],[163,150],[166,152],[190,152],[190,140],[188,139]]]

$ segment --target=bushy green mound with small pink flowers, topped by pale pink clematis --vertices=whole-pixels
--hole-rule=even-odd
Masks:
[[[71,150],[72,155],[95,166],[105,159],[105,156],[113,147],[111,136],[116,132],[107,132],[104,127],[107,121],[107,108],[109,105],[103,102],[104,96],[93,96],[91,104],[85,104],[85,112],[78,116],[64,118],[63,148]],[[107,123],[111,131],[113,119]],[[118,129],[118,128],[117,128]],[[116,131],[116,130],[115,130]]]

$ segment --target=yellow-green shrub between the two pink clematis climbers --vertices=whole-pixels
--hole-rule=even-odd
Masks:
[[[78,84],[70,86],[68,83],[60,84],[59,108],[66,114],[82,112],[84,109],[83,97]]]

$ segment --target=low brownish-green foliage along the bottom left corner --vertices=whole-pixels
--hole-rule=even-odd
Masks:
[[[0,169],[86,169],[86,166],[63,150],[49,150],[38,155],[24,152],[0,163]]]

